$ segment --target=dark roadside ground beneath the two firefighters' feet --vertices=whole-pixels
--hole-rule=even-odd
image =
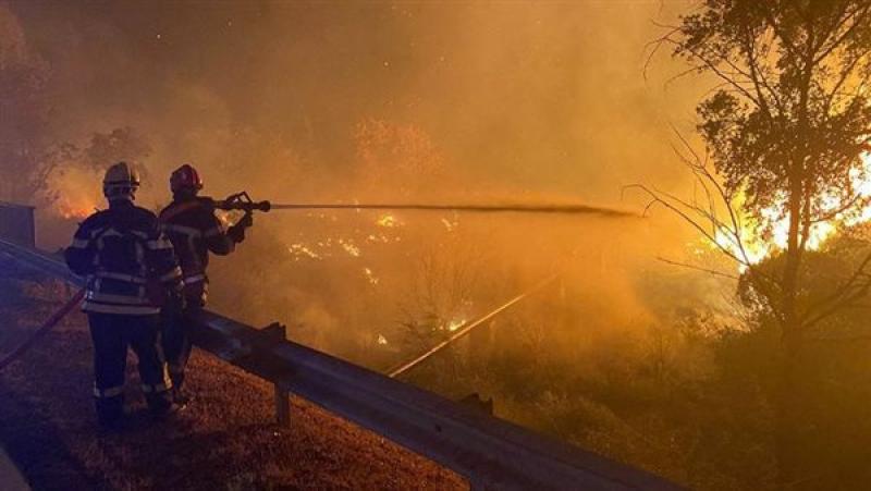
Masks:
[[[71,292],[0,256],[0,356]],[[85,319],[70,316],[0,372],[0,445],[34,489],[466,489],[456,475],[294,400],[275,426],[271,388],[195,352],[195,401],[150,424],[130,360],[133,428],[98,434]]]

